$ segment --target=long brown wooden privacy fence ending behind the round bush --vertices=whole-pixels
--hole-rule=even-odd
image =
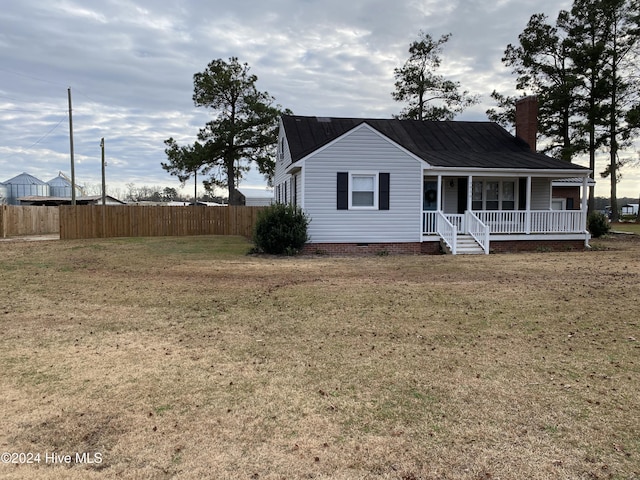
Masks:
[[[78,205],[60,207],[60,239],[242,235],[264,207]]]

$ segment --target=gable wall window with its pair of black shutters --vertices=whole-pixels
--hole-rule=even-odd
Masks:
[[[338,172],[338,210],[389,210],[388,173]]]

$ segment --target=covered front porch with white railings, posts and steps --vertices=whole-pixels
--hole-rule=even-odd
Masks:
[[[478,175],[428,172],[423,181],[423,242],[439,241],[452,254],[488,254],[491,242],[590,238],[586,230],[588,176],[582,178],[580,205],[554,198],[554,176]],[[575,176],[575,171],[572,172]]]

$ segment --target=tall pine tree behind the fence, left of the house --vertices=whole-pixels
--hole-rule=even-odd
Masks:
[[[226,188],[231,205],[238,201],[238,181],[251,164],[270,178],[281,111],[273,105],[271,95],[258,91],[257,80],[249,74],[249,66],[236,57],[229,62],[214,60],[204,72],[196,73],[193,102],[211,109],[215,118],[200,130],[193,145],[179,146],[173,138],[166,140],[168,162],[162,167],[182,182],[198,171],[219,172],[220,176],[211,176],[204,183]]]

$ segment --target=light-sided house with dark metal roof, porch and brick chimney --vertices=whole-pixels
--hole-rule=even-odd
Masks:
[[[584,248],[590,170],[529,148],[537,108],[526,100],[521,138],[491,122],[284,115],[275,199],[310,217],[309,252]],[[582,181],[579,210],[553,210],[563,178]]]

